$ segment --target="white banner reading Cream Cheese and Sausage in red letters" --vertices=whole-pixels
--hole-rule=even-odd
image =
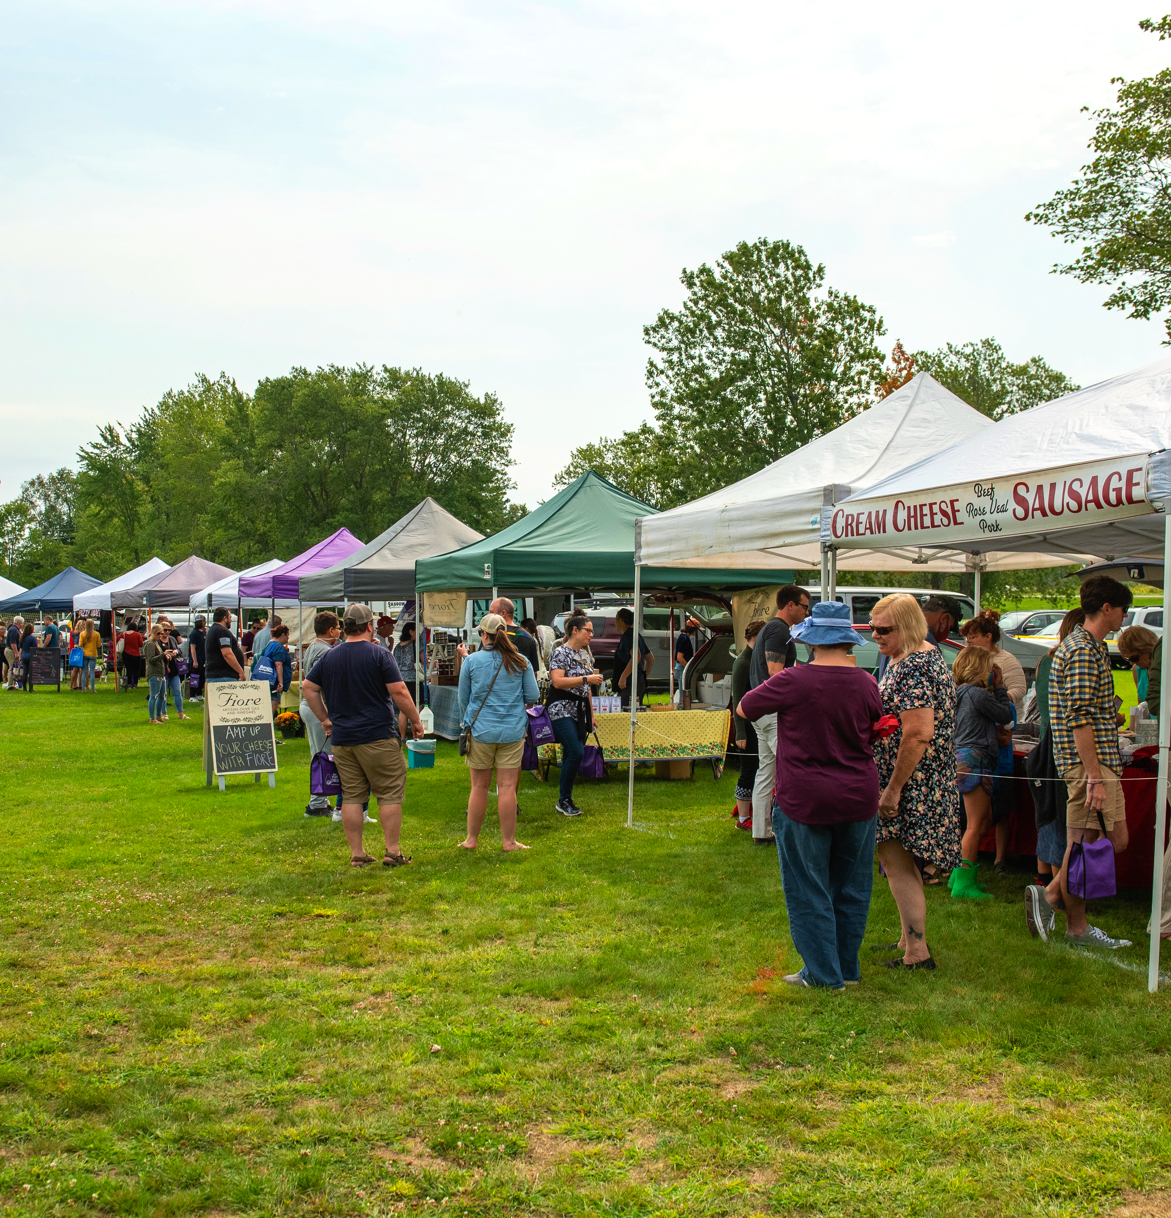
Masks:
[[[861,497],[822,510],[822,541],[844,548],[962,546],[1148,515],[1147,457]]]

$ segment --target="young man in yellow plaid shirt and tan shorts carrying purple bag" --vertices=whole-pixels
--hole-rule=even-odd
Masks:
[[[1104,827],[1115,854],[1126,849],[1126,806],[1122,799],[1122,756],[1119,753],[1121,716],[1114,706],[1114,674],[1105,637],[1122,626],[1131,591],[1108,575],[1082,585],[1086,622],[1076,626],[1053,657],[1049,672],[1049,723],[1053,760],[1065,780],[1065,861],[1048,888],[1030,884],[1025,917],[1030,932],[1043,939],[1053,926],[1053,909],[1065,903],[1065,940],[1096,948],[1128,948],[1127,939],[1111,939],[1086,922],[1086,903],[1069,890],[1069,856],[1076,842],[1096,842]]]

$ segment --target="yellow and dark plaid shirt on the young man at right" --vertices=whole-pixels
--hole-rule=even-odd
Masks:
[[[1087,723],[1094,730],[1098,764],[1115,773],[1122,771],[1119,730],[1114,711],[1114,674],[1105,643],[1078,626],[1057,649],[1049,671],[1049,723],[1053,730],[1053,760],[1058,773],[1081,764],[1074,744],[1074,728]]]

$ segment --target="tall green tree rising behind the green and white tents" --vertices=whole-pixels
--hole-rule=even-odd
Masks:
[[[564,485],[598,462],[672,507],[738,481],[862,410],[881,378],[878,311],[825,286],[790,241],[741,241],[684,270],[678,309],[644,328],[657,426],[575,451]],[[596,468],[596,466],[595,466]]]

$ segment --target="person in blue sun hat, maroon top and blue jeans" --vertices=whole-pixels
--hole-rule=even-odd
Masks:
[[[773,831],[789,931],[805,961],[785,980],[840,990],[862,976],[879,803],[872,739],[881,731],[883,699],[850,654],[862,638],[847,605],[813,605],[792,637],[813,661],[750,689],[738,714],[777,715]]]

